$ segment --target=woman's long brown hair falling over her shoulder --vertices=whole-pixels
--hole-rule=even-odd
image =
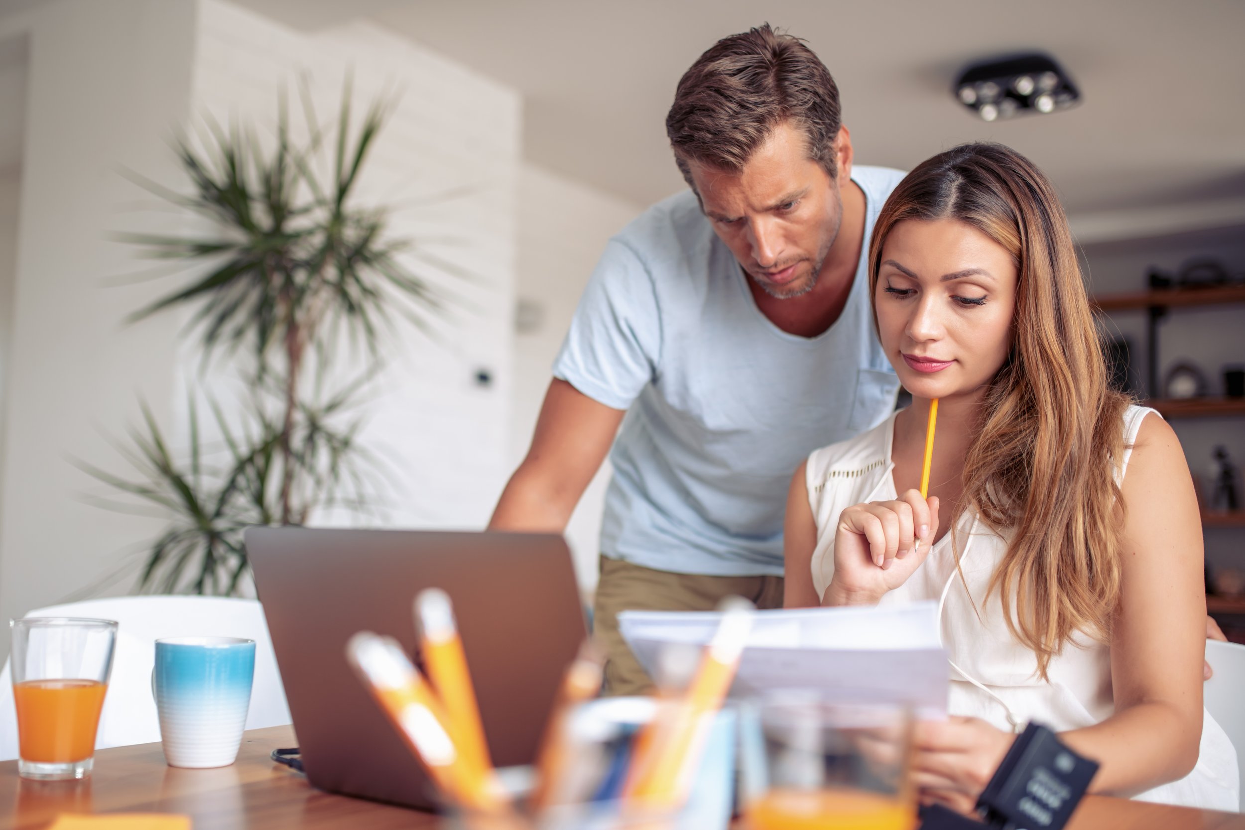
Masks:
[[[1116,470],[1129,399],[1108,387],[1067,217],[1027,158],[1001,144],[961,144],[909,173],[874,228],[870,295],[886,236],[908,219],[972,225],[1011,253],[1020,274],[1011,353],[984,397],[961,506],[1010,536],[991,590],[1045,678],[1074,632],[1111,632],[1123,519]]]

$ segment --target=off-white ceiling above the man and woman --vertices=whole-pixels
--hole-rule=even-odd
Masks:
[[[862,163],[910,168],[995,139],[1043,167],[1079,214],[1245,204],[1240,0],[238,1],[304,30],[366,17],[518,88],[529,161],[637,203],[682,187],[664,122],[684,70],[768,20],[829,66]],[[964,63],[1020,50],[1051,52],[1083,103],[987,124],[951,98]]]

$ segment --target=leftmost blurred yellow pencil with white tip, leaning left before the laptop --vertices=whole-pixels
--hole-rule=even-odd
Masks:
[[[471,810],[507,811],[494,781],[454,747],[441,702],[396,640],[361,631],[346,643],[346,657],[442,793]]]

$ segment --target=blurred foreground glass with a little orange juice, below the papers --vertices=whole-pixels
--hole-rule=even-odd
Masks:
[[[751,830],[911,830],[911,712],[784,693],[741,719]]]

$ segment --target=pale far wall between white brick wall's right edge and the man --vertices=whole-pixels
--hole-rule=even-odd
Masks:
[[[518,296],[520,302],[532,304],[537,310],[538,325],[534,331],[519,331],[514,338],[510,469],[527,453],[552,378],[553,360],[605,241],[641,210],[641,205],[544,168],[523,166],[519,175]],[[608,482],[609,462],[593,479],[566,529],[579,584],[585,589],[596,585],[598,540]]]

